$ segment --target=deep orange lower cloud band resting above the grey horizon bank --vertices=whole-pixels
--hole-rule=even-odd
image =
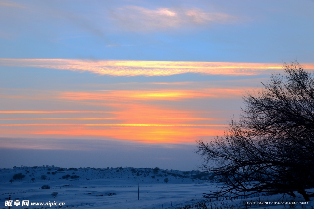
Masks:
[[[158,105],[127,103],[120,105],[120,111],[111,112],[111,118],[100,123],[89,123],[95,118],[31,118],[33,114],[41,112],[41,116],[51,114],[68,114],[71,111],[8,111],[14,115],[27,112],[26,118],[3,118],[0,124],[0,136],[46,137],[46,138],[113,138],[131,140],[141,143],[193,143],[196,138],[215,135],[225,128],[224,120],[210,118],[212,112],[178,111]],[[8,114],[7,111],[0,113]],[[34,113],[30,113],[34,112]],[[45,113],[42,113],[45,112]],[[52,113],[53,112],[53,113]],[[73,111],[73,115],[77,111]],[[92,111],[90,111],[92,112]],[[89,111],[86,113],[89,115]],[[61,121],[58,121],[58,120]],[[73,119],[73,120],[72,120]],[[16,121],[14,121],[16,120]],[[45,120],[51,120],[47,123]],[[62,123],[65,120],[70,123]],[[110,121],[119,121],[112,123]],[[32,122],[35,123],[32,123]],[[42,121],[39,122],[39,121]],[[83,123],[76,123],[82,121]],[[16,123],[17,122],[17,123]]]

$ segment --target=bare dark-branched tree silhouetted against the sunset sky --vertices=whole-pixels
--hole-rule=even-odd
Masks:
[[[205,196],[314,196],[306,191],[314,187],[314,78],[294,61],[263,86],[246,94],[239,122],[231,119],[222,136],[197,142],[200,168],[223,183]]]

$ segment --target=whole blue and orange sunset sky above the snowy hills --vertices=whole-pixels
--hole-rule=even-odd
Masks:
[[[0,0],[1,168],[193,170],[282,64],[314,1]],[[53,157],[52,157],[53,156]]]

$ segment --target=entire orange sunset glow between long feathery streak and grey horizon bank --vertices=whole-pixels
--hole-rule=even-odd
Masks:
[[[2,109],[0,137],[109,138],[141,143],[193,143],[196,138],[211,137],[222,132],[226,125],[225,116],[221,118],[221,114],[225,115],[228,111],[201,111],[215,108],[199,109],[191,104],[221,99],[234,101],[241,98],[243,92],[241,87],[217,88],[212,84],[200,88],[194,83],[176,84],[176,89],[153,87],[145,90],[47,92],[23,89],[23,93],[9,91],[12,97],[2,93],[3,101],[24,107],[23,101],[26,100],[33,104],[26,106],[28,109],[41,107],[48,110]],[[39,101],[44,103],[37,103]],[[54,102],[52,106],[42,105],[51,102]],[[51,111],[51,107],[63,110]]]

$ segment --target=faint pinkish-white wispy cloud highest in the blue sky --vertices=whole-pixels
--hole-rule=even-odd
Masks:
[[[237,17],[226,13],[205,12],[200,8],[155,8],[124,6],[111,11],[111,20],[131,31],[158,31],[213,23],[230,24]]]

